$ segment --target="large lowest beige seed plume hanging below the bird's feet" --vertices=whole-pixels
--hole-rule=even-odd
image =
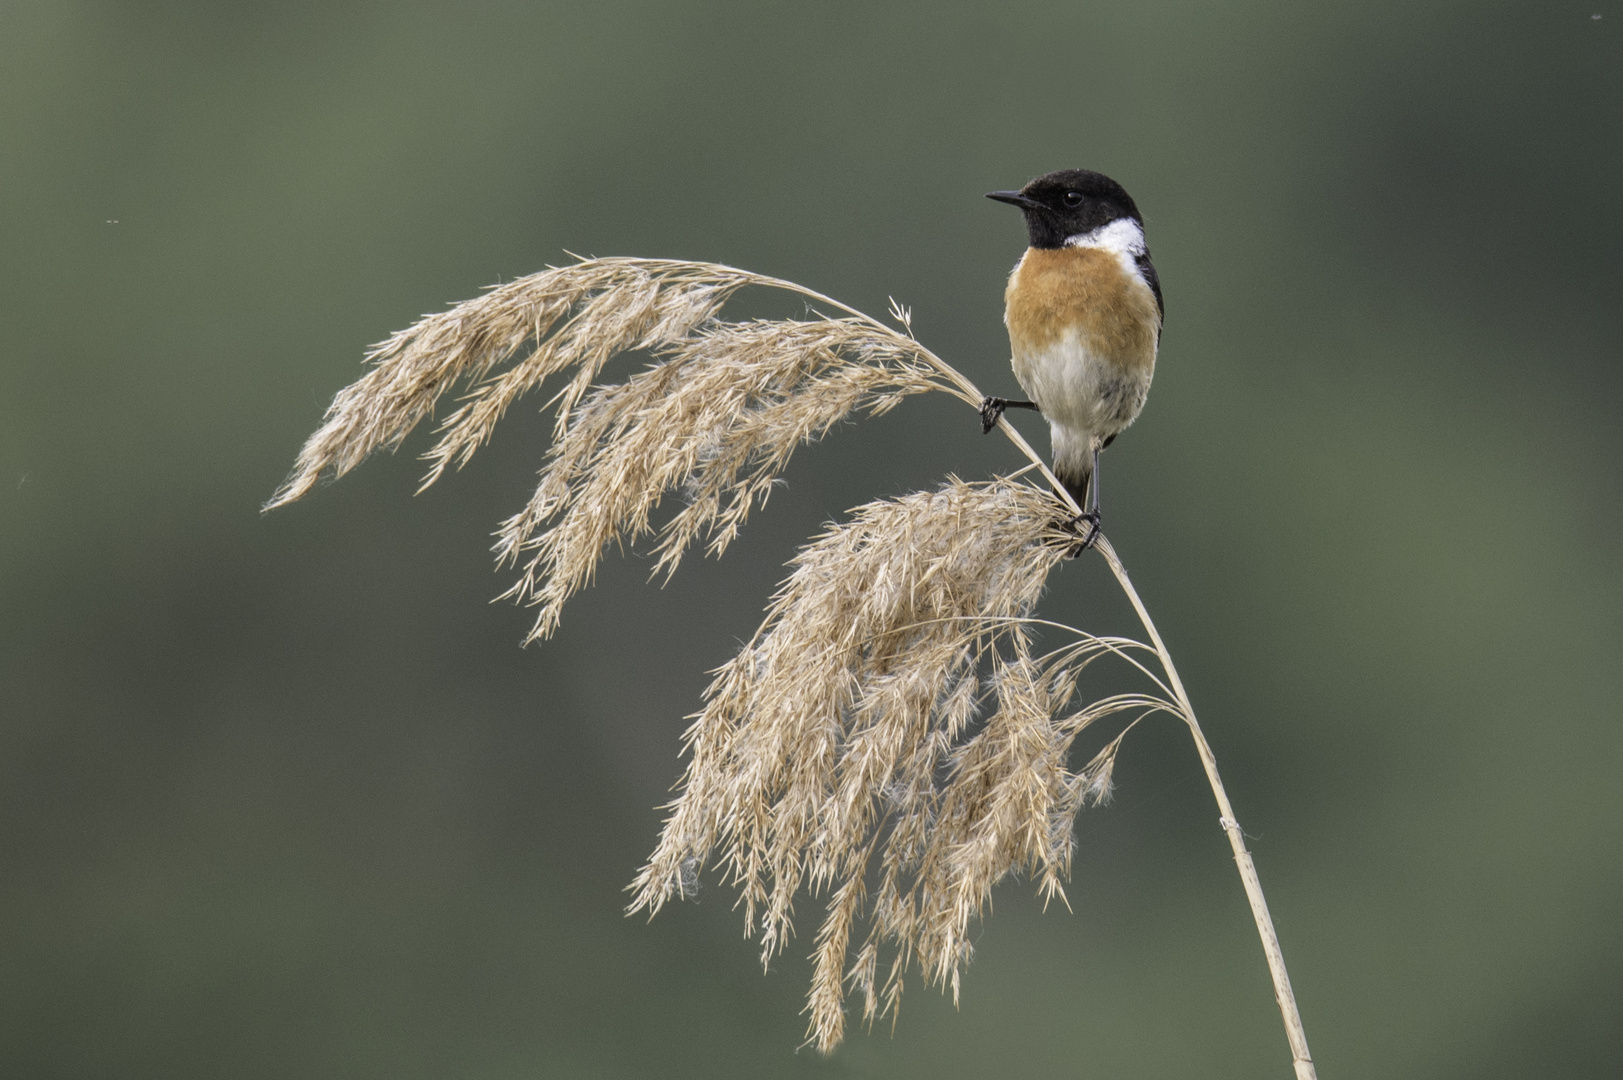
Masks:
[[[807,1005],[823,1051],[842,1038],[847,987],[867,1020],[894,1013],[917,961],[956,997],[971,922],[1010,872],[1063,895],[1071,822],[1104,797],[1120,745],[1071,771],[1071,742],[1104,716],[1177,710],[1121,695],[1065,711],[1092,659],[1144,646],[1076,635],[1032,654],[1029,612],[1074,544],[1061,516],[1018,481],[859,507],[795,557],[688,731],[631,909],[657,911],[719,858],[764,963],[792,934],[797,893],[824,895]]]

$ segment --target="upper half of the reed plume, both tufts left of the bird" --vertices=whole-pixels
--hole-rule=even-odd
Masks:
[[[745,286],[766,286],[847,312],[807,322],[716,318]],[[896,309],[906,330],[906,312]],[[539,606],[531,638],[558,624],[610,541],[635,541],[669,492],[685,505],[662,526],[656,572],[675,570],[700,539],[719,554],[771,490],[794,448],[854,411],[962,378],[912,339],[794,283],[714,263],[581,260],[427,315],[368,352],[372,370],[339,391],[292,474],[266,508],[394,448],[435,403],[471,382],[425,455],[424,487],[464,464],[505,411],[549,377],[565,377],[555,442],[529,503],[502,525],[497,554],[521,565],[508,596]],[[502,367],[526,343],[527,356]],[[631,378],[599,385],[628,351],[654,356]],[[500,369],[500,370],[498,370]]]

